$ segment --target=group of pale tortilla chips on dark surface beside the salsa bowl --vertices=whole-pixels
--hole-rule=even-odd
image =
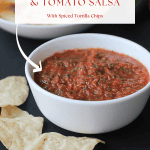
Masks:
[[[88,137],[66,137],[59,133],[42,134],[42,117],[17,108],[28,96],[25,77],[0,80],[0,141],[9,150],[93,150],[103,141]]]

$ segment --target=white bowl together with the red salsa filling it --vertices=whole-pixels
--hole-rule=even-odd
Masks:
[[[127,39],[76,34],[51,40],[29,58],[42,71],[26,77],[35,101],[54,124],[79,133],[105,133],[131,123],[149,94],[150,53]]]

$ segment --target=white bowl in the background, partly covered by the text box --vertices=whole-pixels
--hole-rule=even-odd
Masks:
[[[19,25],[18,35],[32,39],[51,39],[86,30],[91,24]],[[16,34],[16,24],[0,18],[0,28]]]

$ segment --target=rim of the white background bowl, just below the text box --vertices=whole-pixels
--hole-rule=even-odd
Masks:
[[[15,22],[11,22],[9,20],[5,20],[3,18],[0,18],[0,23],[3,22],[4,24],[9,24],[10,26],[16,26],[17,24]],[[75,26],[79,24],[41,24],[41,25],[33,25],[33,24],[19,24],[19,27],[21,28],[31,28],[31,29],[44,29],[44,28],[60,28],[60,27],[68,27],[68,26]],[[1,27],[1,26],[0,26]]]

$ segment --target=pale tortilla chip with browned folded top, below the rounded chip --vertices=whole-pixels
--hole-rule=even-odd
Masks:
[[[0,141],[9,150],[24,150],[41,135],[42,128],[42,117],[29,115],[15,106],[2,108]]]

